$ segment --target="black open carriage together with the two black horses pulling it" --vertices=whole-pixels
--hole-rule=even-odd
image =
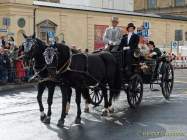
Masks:
[[[29,37],[24,35],[24,37],[23,51],[25,55],[34,59],[36,71],[34,77],[40,78],[37,101],[43,123],[50,123],[51,105],[57,84],[62,91],[62,113],[57,124],[59,127],[64,126],[68,113],[66,107],[70,103],[72,88],[75,89],[77,104],[75,122],[79,124],[81,123],[81,95],[85,97],[87,103],[91,100],[94,105],[99,105],[104,98],[103,114],[105,114],[106,111],[112,112],[112,98],[118,97],[120,90],[127,93],[128,103],[133,108],[141,103],[144,84],[159,84],[166,99],[169,99],[172,92],[174,73],[166,56],[158,60],[142,61],[139,53],[135,53],[132,74],[127,76],[126,68],[123,69],[124,51],[111,52],[112,54],[103,51],[96,54],[72,55],[71,49],[64,44],[57,43],[54,49],[46,46],[34,35]],[[49,91],[47,115],[42,104],[42,95],[46,87]],[[107,90],[110,92],[109,100]]]

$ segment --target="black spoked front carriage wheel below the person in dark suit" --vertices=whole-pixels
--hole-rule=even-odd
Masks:
[[[135,74],[130,78],[127,92],[127,100],[131,108],[136,108],[142,101],[143,97],[143,82],[142,78]]]

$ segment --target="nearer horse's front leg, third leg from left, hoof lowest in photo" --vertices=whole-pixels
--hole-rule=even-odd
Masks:
[[[68,100],[68,91],[70,87],[67,87],[65,85],[60,86],[61,92],[62,92],[62,113],[61,113],[61,117],[57,123],[58,127],[64,127],[64,121],[66,118],[66,105],[67,105],[67,100]]]

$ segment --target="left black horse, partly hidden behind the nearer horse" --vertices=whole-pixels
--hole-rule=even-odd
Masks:
[[[42,41],[38,39],[35,40],[35,35],[28,37],[25,34],[23,34],[23,36],[25,38],[25,42],[20,47],[25,52],[25,55],[27,55],[30,59],[34,59],[35,75],[30,80],[33,80],[37,77],[39,78],[38,85],[37,85],[38,88],[37,101],[41,113],[40,119],[43,123],[50,124],[50,119],[52,114],[51,106],[53,103],[53,95],[54,95],[55,87],[58,84],[58,82],[54,78],[50,77],[50,72],[49,69],[47,69],[46,60],[43,56],[43,53],[48,46],[46,46]],[[33,47],[34,44],[36,45],[36,47]],[[62,86],[61,85],[59,86],[62,92]],[[44,107],[42,103],[42,96],[46,88],[48,88],[47,115],[44,113]],[[71,89],[68,92],[71,93]],[[70,98],[71,95],[68,96],[69,102],[70,102]],[[66,113],[68,113],[69,111],[69,107],[70,107],[69,102],[67,103],[66,106]]]

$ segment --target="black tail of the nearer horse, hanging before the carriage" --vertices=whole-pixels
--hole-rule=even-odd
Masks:
[[[113,91],[114,100],[118,99],[118,97],[120,96],[121,81],[122,79],[121,79],[120,67],[118,66],[118,64],[116,64],[116,71],[115,71],[115,78],[114,78],[114,91]]]

